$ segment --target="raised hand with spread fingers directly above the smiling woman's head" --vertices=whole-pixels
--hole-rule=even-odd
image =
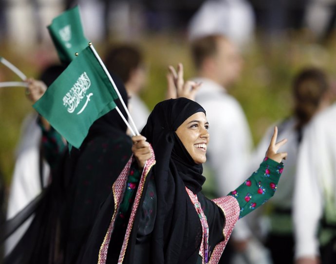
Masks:
[[[196,92],[201,87],[201,83],[196,83],[194,81],[184,81],[182,63],[178,64],[177,71],[172,66],[169,66],[168,69],[167,99],[186,97],[190,100],[195,100]]]

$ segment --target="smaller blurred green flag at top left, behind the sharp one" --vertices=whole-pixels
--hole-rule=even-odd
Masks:
[[[70,63],[75,58],[75,53],[88,46],[89,41],[83,33],[78,6],[54,18],[47,28],[63,63]]]

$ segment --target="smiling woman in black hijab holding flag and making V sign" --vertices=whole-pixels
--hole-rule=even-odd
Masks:
[[[113,184],[81,263],[97,256],[99,264],[219,262],[238,218],[274,194],[285,141],[276,144],[275,129],[259,170],[228,196],[209,200],[201,193],[207,128],[204,108],[187,98],[154,107],[143,136],[132,138],[134,156]]]

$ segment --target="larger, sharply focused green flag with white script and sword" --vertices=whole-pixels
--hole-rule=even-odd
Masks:
[[[118,98],[90,47],[84,49],[33,105],[71,145],[79,148],[92,123]]]

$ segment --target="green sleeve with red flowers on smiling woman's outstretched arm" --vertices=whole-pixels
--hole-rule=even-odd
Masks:
[[[274,195],[282,170],[282,162],[278,163],[266,157],[259,169],[229,194],[238,200],[239,218],[261,206]]]

